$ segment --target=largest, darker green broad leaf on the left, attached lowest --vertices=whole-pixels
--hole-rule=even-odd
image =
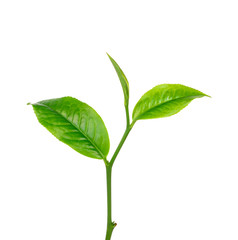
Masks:
[[[60,141],[87,157],[106,159],[108,132],[93,108],[72,97],[44,100],[32,106],[39,122]]]

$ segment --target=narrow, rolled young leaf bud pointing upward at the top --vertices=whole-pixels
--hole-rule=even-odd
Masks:
[[[109,59],[112,62],[112,65],[114,66],[117,75],[120,79],[121,82],[121,86],[122,86],[122,90],[124,93],[124,105],[128,106],[129,104],[129,83],[127,81],[127,78],[125,76],[125,74],[123,73],[123,71],[121,70],[121,68],[119,67],[119,65],[116,63],[116,61],[107,53]]]

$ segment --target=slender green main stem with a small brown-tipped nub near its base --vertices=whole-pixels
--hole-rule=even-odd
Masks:
[[[105,162],[106,166],[106,177],[107,177],[107,233],[106,233],[106,240],[110,240],[112,236],[113,229],[116,227],[116,223],[112,222],[112,166],[115,162],[115,159],[120,152],[129,132],[131,131],[132,127],[134,126],[135,122],[132,122],[132,124],[129,123],[127,125],[127,128],[122,136],[122,139],[115,151],[115,153],[112,156],[112,159],[110,162]]]

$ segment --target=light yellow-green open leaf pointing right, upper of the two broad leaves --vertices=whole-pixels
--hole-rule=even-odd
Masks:
[[[158,85],[137,102],[132,114],[133,121],[169,117],[181,111],[193,99],[204,96],[208,95],[181,84]]]

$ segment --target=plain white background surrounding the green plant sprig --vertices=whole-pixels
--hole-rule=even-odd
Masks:
[[[103,118],[112,156],[147,90],[212,96],[136,123],[113,169],[113,240],[238,239],[237,1],[0,3],[0,239],[103,240],[105,168],[56,140],[27,102],[73,96]]]

